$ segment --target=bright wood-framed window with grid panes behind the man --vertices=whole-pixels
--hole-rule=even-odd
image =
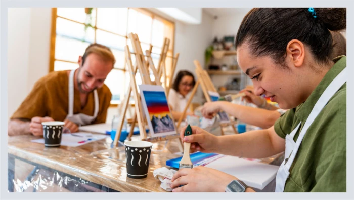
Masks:
[[[124,47],[128,45],[132,52],[132,46],[127,35],[130,32],[137,33],[143,51],[148,50],[150,44],[153,46],[151,57],[157,66],[164,37],[170,39],[167,55],[173,55],[174,23],[145,9],[93,8],[91,11],[89,16],[85,8],[53,8],[50,71],[76,69],[79,55],[82,56],[91,43],[105,45],[112,50],[116,59],[105,84],[112,92],[111,104],[118,104],[124,98],[129,84]],[[134,56],[132,62],[135,63]],[[172,59],[167,57],[167,74],[171,66]],[[153,75],[150,76],[153,80]],[[139,74],[136,80],[141,84]]]

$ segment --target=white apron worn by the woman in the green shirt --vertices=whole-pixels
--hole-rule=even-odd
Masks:
[[[307,129],[314,122],[315,118],[321,112],[322,108],[325,107],[327,102],[331,99],[331,97],[342,87],[342,85],[346,82],[347,76],[346,68],[340,72],[337,77],[333,79],[331,84],[326,88],[326,90],[322,93],[319,100],[316,102],[313,110],[308,115],[308,118],[301,129],[300,135],[297,138],[296,142],[294,141],[294,135],[300,127],[301,122],[296,126],[296,128],[290,133],[290,135],[286,135],[285,137],[285,156],[284,161],[280,165],[277,177],[276,177],[276,188],[275,192],[284,192],[284,187],[286,180],[289,177],[290,167],[295,159],[296,153],[300,147],[303,137],[305,136]]]

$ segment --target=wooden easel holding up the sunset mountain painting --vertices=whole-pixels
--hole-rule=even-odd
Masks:
[[[140,136],[142,138],[142,140],[145,141],[150,141],[150,142],[157,142],[157,141],[168,141],[169,139],[175,139],[178,138],[179,139],[179,135],[168,135],[168,136],[163,136],[163,137],[155,137],[155,138],[148,138],[147,137],[147,133],[146,133],[146,121],[145,121],[145,116],[142,113],[142,104],[141,104],[141,99],[140,99],[140,94],[138,93],[138,88],[137,88],[137,83],[136,83],[136,79],[135,79],[135,74],[137,73],[137,70],[139,70],[140,76],[142,78],[142,83],[143,84],[148,84],[148,85],[161,85],[160,82],[160,76],[158,74],[158,71],[155,69],[154,63],[152,61],[152,58],[150,56],[150,52],[151,52],[151,48],[150,50],[146,51],[146,57],[147,57],[147,61],[145,60],[145,56],[143,54],[143,51],[141,49],[141,45],[140,45],[140,41],[139,41],[139,37],[137,34],[132,34],[130,33],[129,35],[132,47],[134,49],[134,53],[135,57],[136,57],[136,64],[137,66],[134,67],[132,65],[131,62],[131,56],[130,56],[130,51],[129,51],[129,47],[125,46],[125,62],[127,63],[127,67],[129,70],[129,76],[130,76],[130,83],[129,83],[129,88],[128,88],[128,93],[124,99],[123,102],[123,106],[122,106],[122,110],[121,110],[121,115],[122,117],[120,117],[119,119],[119,124],[118,124],[118,128],[117,128],[117,132],[114,138],[114,142],[113,144],[116,146],[117,142],[118,142],[118,138],[120,138],[121,135],[121,131],[122,131],[122,127],[123,127],[123,122],[124,122],[124,118],[126,117],[126,110],[128,107],[128,103],[129,103],[129,98],[130,98],[130,94],[131,92],[133,92],[133,97],[134,100],[136,102],[135,105],[135,113],[134,113],[134,117],[133,117],[133,123],[131,126],[131,130],[129,133],[129,136],[132,135],[134,126],[135,126],[135,121],[138,122],[138,126],[139,126],[139,132],[140,132]],[[165,40],[166,41],[166,40]],[[168,48],[168,47],[167,47]],[[163,61],[163,59],[160,59],[160,61]],[[150,79],[150,75],[149,75],[149,68],[147,63],[149,63],[149,67],[152,70],[154,76],[155,76],[155,81],[152,82]],[[159,62],[160,63],[160,62]],[[183,150],[183,145],[181,140],[179,139],[179,148],[182,151]]]

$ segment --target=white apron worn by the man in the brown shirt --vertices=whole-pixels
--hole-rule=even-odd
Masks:
[[[97,90],[94,90],[94,102],[95,102],[95,111],[94,116],[89,116],[87,114],[74,114],[74,74],[75,69],[71,70],[69,76],[69,111],[66,119],[77,124],[78,126],[90,125],[97,117],[99,109],[99,100]]]

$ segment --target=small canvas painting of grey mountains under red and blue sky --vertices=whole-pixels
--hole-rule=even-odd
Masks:
[[[154,133],[174,131],[173,120],[163,91],[142,91]]]

